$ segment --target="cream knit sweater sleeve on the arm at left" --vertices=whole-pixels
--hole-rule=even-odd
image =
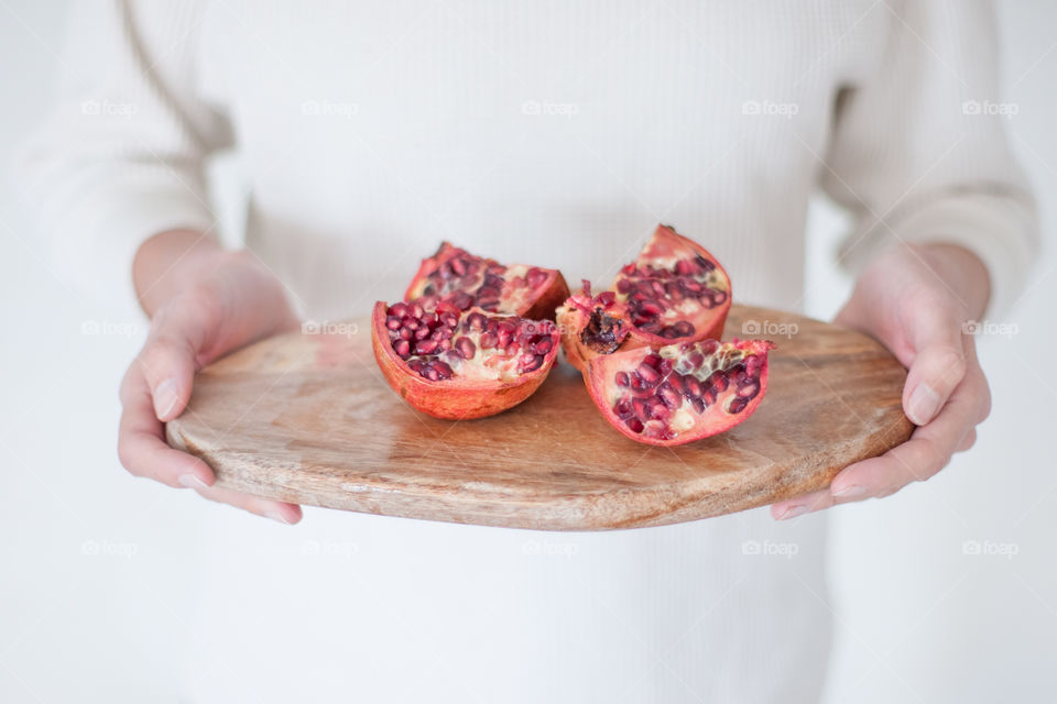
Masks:
[[[215,226],[204,161],[230,129],[195,96],[200,11],[77,2],[57,109],[15,158],[53,271],[94,299],[134,300],[132,262],[148,238]]]

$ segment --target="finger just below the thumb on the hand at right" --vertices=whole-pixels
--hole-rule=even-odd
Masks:
[[[980,418],[984,386],[982,374],[977,372],[955,392],[939,416],[915,430],[907,442],[844,468],[830,485],[837,503],[887,496],[944,469]]]

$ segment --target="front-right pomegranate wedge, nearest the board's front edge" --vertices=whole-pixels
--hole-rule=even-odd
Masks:
[[[737,426],[767,389],[766,340],[685,342],[596,355],[587,388],[611,426],[632,440],[676,446]]]

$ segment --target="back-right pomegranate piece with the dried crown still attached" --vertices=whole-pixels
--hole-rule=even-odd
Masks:
[[[584,371],[588,360],[617,350],[718,339],[730,296],[730,278],[716,257],[672,227],[657,226],[609,290],[592,296],[584,282],[558,309],[562,344]]]

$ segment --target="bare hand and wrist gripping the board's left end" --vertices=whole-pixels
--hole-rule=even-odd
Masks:
[[[151,331],[121,382],[118,457],[135,476],[188,487],[206,498],[281,522],[296,504],[213,486],[201,460],[165,443],[165,421],[183,413],[195,372],[244,344],[298,327],[282,284],[248,252],[227,252],[195,232],[155,235],[137,254],[134,276]]]

